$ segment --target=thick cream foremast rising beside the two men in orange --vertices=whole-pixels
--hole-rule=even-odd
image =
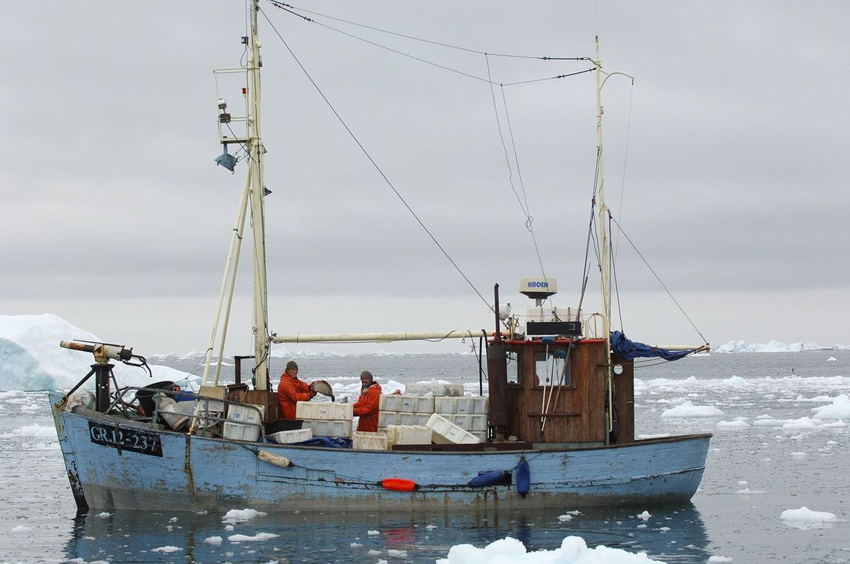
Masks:
[[[258,390],[269,388],[269,301],[266,289],[265,264],[265,174],[263,168],[263,143],[260,138],[260,42],[257,28],[259,0],[250,0],[251,56],[248,59],[248,97],[251,115],[248,120],[247,143],[251,190],[251,219],[254,241],[254,386]]]

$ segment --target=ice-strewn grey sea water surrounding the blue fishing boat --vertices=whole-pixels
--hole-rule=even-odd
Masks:
[[[432,379],[462,383],[469,393],[479,390],[478,358],[471,354],[297,361],[303,378],[327,380],[342,397],[356,396],[364,369],[376,375],[384,392],[393,392],[396,384]],[[199,370],[197,358],[157,362]],[[285,362],[273,359],[275,382]],[[0,392],[0,560],[433,562],[455,544],[483,547],[509,536],[528,550],[553,550],[564,537],[576,535],[590,546],[643,551],[667,562],[846,562],[850,428],[813,416],[815,409],[850,392],[848,368],[850,351],[640,361],[636,434],[714,433],[706,473],[692,504],[600,510],[564,506],[411,515],[347,513],[344,507],[298,513],[283,506],[280,513],[259,516],[77,514],[46,392]],[[783,511],[802,507],[836,518],[781,518]]]

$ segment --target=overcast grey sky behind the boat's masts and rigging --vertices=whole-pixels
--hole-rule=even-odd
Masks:
[[[609,204],[706,338],[850,344],[847,3],[295,5],[489,53],[587,56],[598,33],[605,68],[636,76],[633,90],[623,77],[604,89]],[[540,268],[490,88],[263,9],[484,296],[498,282],[504,301],[524,306],[519,277]],[[246,172],[212,163],[212,69],[239,64],[243,3],[48,1],[3,12],[0,313],[57,313],[143,353],[205,348]],[[487,74],[479,54],[314,18]],[[261,22],[271,329],[490,328],[484,304]],[[496,82],[588,68],[489,61]],[[543,264],[558,278],[558,305],[575,305],[592,75],[504,92]],[[228,95],[231,107],[237,98]],[[700,341],[625,240],[617,274],[629,336]],[[586,311],[598,307],[597,285]],[[249,311],[242,299],[231,352],[248,349]]]

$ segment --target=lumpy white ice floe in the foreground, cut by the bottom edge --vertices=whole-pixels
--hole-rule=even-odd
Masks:
[[[485,564],[486,562],[512,562],[512,564],[533,564],[547,562],[575,562],[592,564],[632,564],[632,562],[659,562],[649,559],[645,552],[632,554],[626,550],[607,546],[588,548],[581,537],[567,537],[555,550],[537,550],[528,552],[524,544],[517,539],[506,537],[488,544],[483,549],[472,544],[456,544],[449,549],[447,558],[439,558],[437,564]]]

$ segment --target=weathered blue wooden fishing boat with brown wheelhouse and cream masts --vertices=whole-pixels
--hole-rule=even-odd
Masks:
[[[636,438],[634,358],[681,358],[708,345],[647,347],[611,330],[609,210],[601,155],[594,201],[603,296],[598,312],[582,313],[581,298],[575,308],[545,305],[555,295],[557,282],[543,276],[521,279],[519,289],[535,301],[523,321],[501,307],[499,286],[494,286],[491,330],[286,336],[269,329],[259,0],[248,0],[248,6],[250,33],[242,38],[246,65],[216,71],[216,76],[244,78],[245,98],[245,115],[237,116],[230,113],[226,99],[217,96],[224,153],[216,161],[232,171],[236,158],[228,148],[241,149],[248,173],[207,347],[203,386],[198,391],[178,391],[172,382],[119,386],[113,363],[144,369],[143,356],[123,345],[63,341],[61,346],[94,357],[91,371],[74,389],[50,395],[77,506],[81,510],[510,510],[691,499],[705,469],[711,435]],[[596,58],[587,60],[597,76],[601,151],[600,93],[603,76],[612,73],[602,71],[598,43]],[[244,133],[238,127],[235,133],[237,125]],[[252,389],[239,381],[239,369],[235,384],[219,386],[246,218],[252,228],[254,265]],[[271,426],[281,422],[277,394],[269,381],[273,343],[433,338],[482,341],[479,350],[486,352],[486,360],[479,362],[480,390],[483,394],[484,381],[488,390],[483,436],[457,443],[396,443],[384,449],[332,440],[283,444],[267,440],[275,431]],[[75,401],[77,388],[92,377],[93,401]],[[185,409],[187,405],[190,409]],[[241,426],[251,433],[235,437],[222,431],[228,423],[233,425],[236,413],[244,415]]]

